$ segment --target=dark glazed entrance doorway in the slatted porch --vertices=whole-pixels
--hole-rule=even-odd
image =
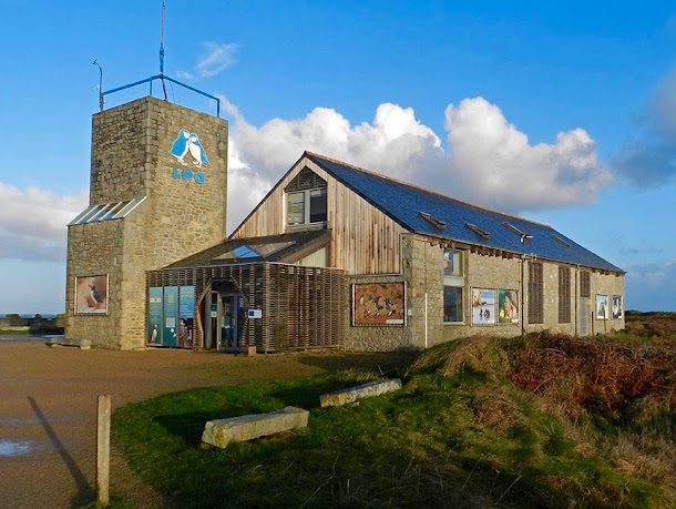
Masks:
[[[213,282],[204,347],[219,352],[238,352],[244,326],[244,296],[231,282]]]

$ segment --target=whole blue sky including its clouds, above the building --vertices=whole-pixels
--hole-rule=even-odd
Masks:
[[[628,271],[627,308],[676,311],[676,10],[533,6],[167,0],[167,74],[229,103],[231,226],[311,149],[553,224]],[[55,313],[92,60],[104,89],[156,73],[160,1],[0,8],[0,313]]]

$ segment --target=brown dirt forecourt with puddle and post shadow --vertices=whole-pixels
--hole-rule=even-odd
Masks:
[[[0,340],[0,506],[92,501],[99,394],[120,407],[193,387],[295,378],[387,363],[376,355],[235,357],[185,350],[106,352]],[[13,452],[13,455],[12,455]],[[22,454],[20,454],[22,452]],[[111,495],[139,507],[170,505],[137,479],[113,444]]]

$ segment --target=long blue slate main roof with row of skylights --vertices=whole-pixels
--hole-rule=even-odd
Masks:
[[[304,155],[410,232],[554,262],[624,272],[549,225],[483,208],[311,152]],[[421,213],[430,214],[445,226],[434,225]],[[503,223],[532,238],[522,243],[522,234]],[[468,224],[475,225],[480,233]]]

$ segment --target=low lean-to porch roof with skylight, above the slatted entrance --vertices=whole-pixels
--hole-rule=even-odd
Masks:
[[[329,236],[328,230],[310,230],[264,237],[224,240],[165,268],[258,262],[296,263],[309,252],[326,246]]]

